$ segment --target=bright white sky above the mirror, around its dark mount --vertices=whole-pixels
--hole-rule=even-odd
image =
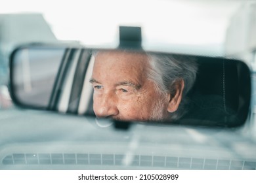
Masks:
[[[194,46],[221,54],[229,18],[242,2],[8,0],[0,13],[42,13],[58,39],[86,45],[118,44],[119,25],[133,25],[142,27],[142,44],[149,49]]]

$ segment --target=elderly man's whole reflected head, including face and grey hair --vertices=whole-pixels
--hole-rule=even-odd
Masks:
[[[91,84],[93,110],[100,118],[115,120],[178,119],[184,96],[194,84],[194,62],[171,56],[100,51],[95,54]]]

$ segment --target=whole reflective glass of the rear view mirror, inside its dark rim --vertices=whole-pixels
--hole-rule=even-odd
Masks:
[[[244,124],[250,71],[236,59],[26,47],[11,57],[17,105],[129,122]]]

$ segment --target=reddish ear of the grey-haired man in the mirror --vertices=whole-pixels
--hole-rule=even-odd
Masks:
[[[173,93],[173,95],[169,93],[169,103],[167,107],[168,112],[175,112],[178,109],[182,99],[182,92],[184,89],[184,80],[182,79],[178,80],[173,84],[172,87],[174,87],[173,89],[175,93]]]

